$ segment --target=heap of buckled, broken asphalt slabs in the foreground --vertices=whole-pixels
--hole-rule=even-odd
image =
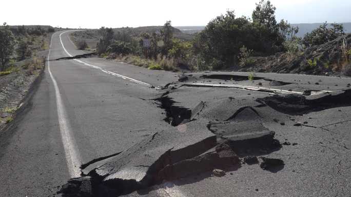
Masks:
[[[162,97],[166,96],[156,101],[165,101]],[[280,148],[280,143],[274,139],[275,132],[263,126],[258,112],[251,107],[235,107],[232,114],[224,117],[226,122],[216,124],[223,131],[230,130],[225,135],[219,131],[221,129],[214,128],[211,115],[198,117],[216,108],[222,110],[227,104],[226,100],[219,101],[213,105],[216,107],[201,110],[200,103],[189,115],[197,119],[178,122],[178,126],[155,132],[120,154],[84,165],[83,178],[69,180],[61,192],[65,196],[118,196],[213,169],[238,169],[241,166],[239,156],[257,156]],[[172,108],[171,104],[168,108]],[[176,112],[183,113],[173,111],[172,116],[181,116]],[[253,120],[252,113],[256,115]],[[255,130],[243,127],[245,122],[257,122]],[[251,152],[245,150],[249,146]]]

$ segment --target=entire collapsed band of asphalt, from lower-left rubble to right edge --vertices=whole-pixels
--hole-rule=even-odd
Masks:
[[[284,143],[275,139],[276,132],[267,124],[278,123],[278,118],[285,122],[291,113],[351,104],[349,90],[341,90],[310,96],[227,97],[201,101],[189,109],[175,106],[171,93],[181,90],[169,89],[152,100],[165,110],[169,129],[155,131],[121,153],[83,165],[82,177],[62,187],[63,196],[119,196],[212,170],[223,176],[219,172],[235,171],[242,164],[259,164],[262,170],[276,173],[286,164],[266,155],[280,150]]]

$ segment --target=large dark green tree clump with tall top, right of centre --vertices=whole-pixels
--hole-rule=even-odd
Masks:
[[[195,53],[217,70],[236,64],[243,46],[260,55],[283,51],[284,41],[294,36],[298,29],[283,20],[277,23],[275,10],[269,1],[262,0],[256,4],[252,19],[236,17],[234,11],[217,16],[197,34]]]

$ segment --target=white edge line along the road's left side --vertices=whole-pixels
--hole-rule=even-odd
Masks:
[[[59,86],[57,86],[57,82],[54,78],[54,76],[51,73],[50,70],[50,53],[51,53],[51,43],[52,43],[52,37],[51,36],[51,41],[50,41],[50,48],[49,48],[49,54],[47,57],[47,62],[48,62],[48,71],[52,80],[52,83],[55,88],[55,95],[56,95],[56,108],[57,108],[57,117],[59,119],[59,127],[60,127],[60,132],[61,132],[61,137],[62,137],[62,143],[65,149],[65,156],[66,156],[66,164],[67,168],[69,171],[69,174],[71,178],[76,178],[81,175],[81,170],[80,170],[80,165],[81,165],[81,157],[79,154],[78,149],[75,146],[74,138],[69,126],[69,121],[67,119],[66,115],[66,110],[64,107],[64,104],[61,99],[61,93],[59,90]]]

